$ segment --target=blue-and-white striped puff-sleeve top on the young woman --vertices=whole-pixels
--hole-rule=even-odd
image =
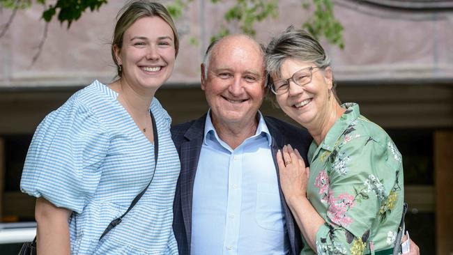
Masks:
[[[99,241],[154,173],[154,146],[117,96],[95,81],[47,115],[31,141],[21,190],[74,212],[72,254],[178,254],[171,224],[180,163],[171,118],[156,98],[151,111],[159,157],[153,183],[123,222]]]

